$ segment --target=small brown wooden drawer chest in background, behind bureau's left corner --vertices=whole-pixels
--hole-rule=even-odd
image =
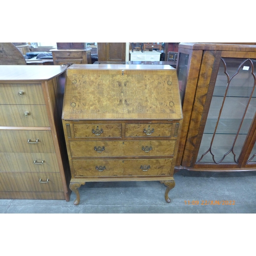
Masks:
[[[52,49],[54,65],[91,64],[91,48]]]

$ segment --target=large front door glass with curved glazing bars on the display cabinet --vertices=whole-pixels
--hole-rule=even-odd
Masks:
[[[238,163],[256,110],[255,63],[221,59],[198,163]]]

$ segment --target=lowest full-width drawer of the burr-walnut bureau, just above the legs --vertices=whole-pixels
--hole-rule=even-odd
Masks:
[[[74,177],[170,175],[173,159],[72,160]]]

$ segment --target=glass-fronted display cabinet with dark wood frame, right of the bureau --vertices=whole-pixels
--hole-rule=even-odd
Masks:
[[[176,169],[256,170],[256,46],[179,44]]]

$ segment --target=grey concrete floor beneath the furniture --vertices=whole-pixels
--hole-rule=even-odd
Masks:
[[[2,214],[245,214],[256,213],[256,172],[189,172],[174,175],[169,204],[165,186],[158,181],[88,182],[64,200],[0,200]],[[205,201],[220,205],[206,205]],[[222,205],[222,200],[231,205]],[[189,204],[188,204],[189,201]],[[193,202],[198,201],[198,202]],[[227,203],[229,203],[227,202]],[[194,205],[193,205],[194,203]],[[196,205],[195,203],[198,203]]]

